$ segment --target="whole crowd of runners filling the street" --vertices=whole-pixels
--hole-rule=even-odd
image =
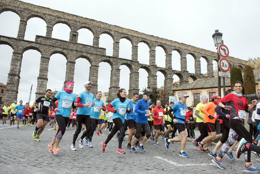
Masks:
[[[198,126],[200,135],[192,141],[194,150],[208,153],[212,162],[220,169],[225,169],[222,165],[222,158],[226,155],[230,160],[235,160],[232,150],[238,144],[236,158],[244,154],[246,172],[259,172],[260,169],[253,166],[250,160],[251,151],[260,159],[260,103],[253,100],[248,106],[246,98],[242,95],[243,84],[236,81],[233,84],[233,90],[226,91],[226,96],[221,98],[213,95],[210,98],[202,96],[200,103],[197,104],[194,111],[196,119],[193,118],[192,108],[186,107],[185,102],[189,97],[185,93],[179,93],[179,102],[170,102],[169,106],[161,105],[161,101],[155,103],[148,102],[150,93],[145,91],[142,99],[138,100],[139,94],[133,93],[126,99],[126,90],[121,88],[117,93],[117,98],[113,100],[106,108],[101,100],[102,93],[98,91],[93,95],[90,92],[92,82],[84,83],[84,91],[76,97],[73,94],[74,82],[68,81],[65,89],[59,91],[53,98],[51,90],[47,89],[45,95],[39,97],[29,106],[23,105],[23,101],[14,101],[10,106],[8,103],[1,107],[1,120],[6,124],[10,117],[10,126],[17,121],[22,126],[34,126],[32,138],[40,141],[40,134],[45,126],[55,126],[55,135],[48,144],[49,152],[60,154],[59,144],[66,129],[72,124],[74,134],[70,149],[76,150],[76,142],[80,148],[86,146],[92,148],[92,138],[94,132],[96,135],[102,134],[102,130],[109,129],[109,134],[101,142],[101,151],[109,145],[109,141],[116,134],[118,138],[118,154],[125,154],[122,149],[124,137],[128,136],[127,149],[131,153],[146,152],[144,143],[154,141],[154,145],[159,146],[158,138],[164,139],[165,146],[168,149],[174,142],[181,143],[179,156],[188,158],[185,153],[187,137],[194,138],[195,126]],[[58,101],[57,101],[58,100]],[[56,102],[57,101],[57,102]],[[246,118],[246,112],[249,113],[249,119],[252,122],[250,131],[244,127],[243,121]],[[220,134],[216,134],[216,119],[220,120]],[[253,124],[254,123],[254,124]],[[185,130],[187,128],[187,132]],[[257,127],[257,128],[254,128]],[[79,137],[79,134],[83,133]],[[176,132],[178,136],[175,136]],[[171,134],[171,137],[169,137]],[[253,138],[252,138],[252,135]],[[208,147],[214,139],[220,138],[214,149],[210,151]],[[95,141],[95,140],[94,140]],[[217,151],[220,151],[217,153]]]

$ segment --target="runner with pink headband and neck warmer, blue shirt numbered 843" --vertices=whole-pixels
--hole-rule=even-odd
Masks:
[[[73,108],[77,107],[77,102],[76,102],[77,98],[75,94],[72,93],[74,82],[68,81],[64,87],[65,89],[63,91],[57,92],[57,94],[51,100],[51,105],[53,106],[54,111],[56,112],[55,120],[59,126],[57,133],[53,137],[51,143],[48,145],[49,152],[54,154],[60,154],[59,144],[62,139],[62,136],[66,131],[66,126],[70,118],[71,107]],[[58,107],[56,107],[55,105],[56,100],[59,100]],[[55,148],[54,148],[54,144],[55,144]]]

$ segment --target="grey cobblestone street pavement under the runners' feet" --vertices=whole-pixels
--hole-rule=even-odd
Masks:
[[[60,154],[52,154],[47,146],[55,134],[54,129],[47,125],[39,142],[31,137],[34,129],[35,126],[20,125],[16,129],[16,126],[8,124],[0,125],[1,173],[244,173],[243,155],[240,159],[235,158],[235,161],[224,156],[222,164],[226,169],[223,170],[211,162],[212,158],[208,154],[194,150],[190,142],[185,147],[190,158],[178,156],[180,143],[170,144],[169,149],[166,149],[161,138],[158,139],[160,146],[155,146],[154,141],[146,142],[145,153],[136,149],[137,153],[132,154],[127,149],[125,137],[122,147],[126,154],[117,154],[118,140],[114,136],[103,153],[101,141],[107,138],[108,130],[100,136],[94,134],[93,148],[84,145],[80,149],[76,142],[77,151],[71,151],[74,129],[67,129],[60,143]],[[260,167],[260,160],[254,154],[251,155],[251,161]]]

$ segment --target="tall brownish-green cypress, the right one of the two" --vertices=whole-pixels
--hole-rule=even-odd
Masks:
[[[249,65],[245,65],[244,68],[244,92],[246,95],[255,94],[255,76],[253,68]]]

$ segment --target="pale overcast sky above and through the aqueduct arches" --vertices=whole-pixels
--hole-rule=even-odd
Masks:
[[[68,1],[68,0],[23,0],[40,5],[102,21],[108,24],[132,29],[161,38],[189,44],[216,52],[212,34],[215,29],[223,33],[224,44],[229,48],[229,55],[243,60],[259,57],[259,7],[260,1]],[[130,3],[129,3],[130,2]],[[158,3],[160,2],[160,3]],[[0,35],[17,37],[19,16],[13,12],[0,14]],[[65,24],[53,27],[52,37],[69,40],[70,28]],[[93,35],[87,29],[80,29],[78,42],[92,45]],[[31,18],[27,22],[25,40],[35,40],[35,35],[46,35],[46,23],[40,18]],[[102,34],[99,46],[106,48],[106,55],[112,56],[113,40]],[[119,57],[131,59],[131,43],[120,40]],[[0,45],[1,68],[0,82],[6,83],[10,70],[12,48]],[[23,53],[18,100],[28,101],[29,91],[33,84],[31,103],[35,99],[37,77],[40,66],[40,53],[27,50]],[[149,49],[144,43],[138,44],[138,61],[149,63]],[[216,62],[214,69],[216,69]],[[165,53],[156,47],[156,64],[165,67]],[[201,73],[207,73],[207,63],[201,58]],[[84,90],[83,83],[88,80],[90,63],[86,59],[77,59],[74,74],[74,92]],[[180,70],[180,55],[172,52],[172,67]],[[88,70],[82,76],[82,69]],[[120,66],[120,88],[129,89],[130,70]],[[187,55],[187,70],[194,73],[194,59]],[[108,91],[111,67],[108,63],[99,64],[98,90]],[[66,58],[60,54],[50,57],[47,88],[61,90],[65,81]],[[139,70],[139,88],[147,87],[147,72]],[[174,75],[175,81],[179,78]],[[164,76],[157,72],[157,87],[164,85]]]

